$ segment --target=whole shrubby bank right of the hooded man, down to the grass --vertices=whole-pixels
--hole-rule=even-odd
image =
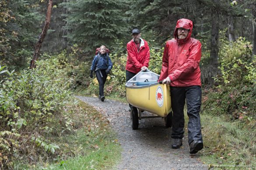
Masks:
[[[218,87],[207,94],[203,109],[232,120],[256,119],[256,57],[252,60],[252,46],[242,37],[231,44],[225,39],[221,42],[221,74],[215,77]]]

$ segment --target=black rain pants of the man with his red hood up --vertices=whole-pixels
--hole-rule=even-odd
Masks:
[[[182,139],[184,133],[184,105],[187,103],[189,144],[193,140],[203,142],[200,122],[202,90],[200,86],[171,87],[172,138]]]

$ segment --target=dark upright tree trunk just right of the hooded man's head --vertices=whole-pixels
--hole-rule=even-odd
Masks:
[[[217,5],[219,0],[213,0]],[[210,64],[217,68],[218,66],[218,41],[219,41],[219,12],[215,8],[212,9],[211,19],[211,40],[210,40]]]

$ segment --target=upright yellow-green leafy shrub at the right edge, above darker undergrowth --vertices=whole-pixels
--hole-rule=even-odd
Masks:
[[[229,44],[222,40],[220,48],[219,62],[221,75],[216,77],[216,81],[224,85],[237,85],[242,83],[253,83],[255,74],[252,63],[252,45],[245,38],[239,37],[235,42]],[[253,77],[254,76],[254,77]],[[248,81],[249,80],[249,81]],[[251,81],[250,81],[251,80]]]

